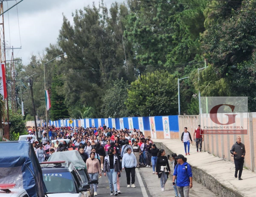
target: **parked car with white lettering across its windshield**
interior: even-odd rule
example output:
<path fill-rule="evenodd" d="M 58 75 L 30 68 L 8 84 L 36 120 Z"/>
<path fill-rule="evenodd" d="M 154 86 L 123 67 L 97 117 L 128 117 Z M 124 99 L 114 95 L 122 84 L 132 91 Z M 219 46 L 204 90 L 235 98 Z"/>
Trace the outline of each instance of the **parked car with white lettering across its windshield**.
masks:
<path fill-rule="evenodd" d="M 97 180 L 83 183 L 75 166 L 70 162 L 42 162 L 40 165 L 48 197 L 94 197 L 90 184 L 97 183 Z"/>

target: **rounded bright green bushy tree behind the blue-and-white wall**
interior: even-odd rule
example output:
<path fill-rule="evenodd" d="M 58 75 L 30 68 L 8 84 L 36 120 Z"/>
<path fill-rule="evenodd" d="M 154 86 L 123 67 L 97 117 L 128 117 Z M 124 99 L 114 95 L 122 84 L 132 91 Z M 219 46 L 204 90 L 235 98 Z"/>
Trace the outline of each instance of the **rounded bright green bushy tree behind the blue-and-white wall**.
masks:
<path fill-rule="evenodd" d="M 166 71 L 142 75 L 131 83 L 125 105 L 132 116 L 176 115 L 177 79 Z"/>

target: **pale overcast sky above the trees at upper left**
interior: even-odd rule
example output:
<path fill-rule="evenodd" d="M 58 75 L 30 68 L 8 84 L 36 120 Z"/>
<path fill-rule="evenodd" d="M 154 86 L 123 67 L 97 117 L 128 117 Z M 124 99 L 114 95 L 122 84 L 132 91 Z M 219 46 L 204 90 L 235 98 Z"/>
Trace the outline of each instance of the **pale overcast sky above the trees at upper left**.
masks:
<path fill-rule="evenodd" d="M 23 0 L 18 5 L 21 42 L 17 8 L 9 11 L 9 17 L 8 13 L 4 15 L 7 46 L 22 47 L 14 50 L 14 58 L 22 58 L 23 64 L 28 64 L 31 54 L 42 53 L 50 43 L 56 43 L 62 26 L 62 13 L 72 21 L 72 12 L 92 5 L 93 1 L 98 5 L 99 0 Z M 110 7 L 115 1 L 121 3 L 125 0 L 104 0 L 104 4 Z M 4 2 L 4 10 L 15 3 L 15 0 L 8 1 L 8 5 Z M 8 59 L 11 59 L 10 50 L 7 50 Z"/>

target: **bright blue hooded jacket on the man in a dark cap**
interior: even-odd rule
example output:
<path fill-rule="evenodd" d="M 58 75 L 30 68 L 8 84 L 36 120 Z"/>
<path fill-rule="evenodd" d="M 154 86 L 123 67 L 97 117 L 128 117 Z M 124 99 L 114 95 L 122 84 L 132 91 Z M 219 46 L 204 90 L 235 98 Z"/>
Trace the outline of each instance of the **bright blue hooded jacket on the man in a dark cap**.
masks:
<path fill-rule="evenodd" d="M 187 169 L 186 169 L 186 165 L 187 165 Z M 189 186 L 190 184 L 189 177 L 192 177 L 191 166 L 187 162 L 184 162 L 184 164 L 177 164 L 175 166 L 173 176 L 177 177 L 178 187 Z"/>

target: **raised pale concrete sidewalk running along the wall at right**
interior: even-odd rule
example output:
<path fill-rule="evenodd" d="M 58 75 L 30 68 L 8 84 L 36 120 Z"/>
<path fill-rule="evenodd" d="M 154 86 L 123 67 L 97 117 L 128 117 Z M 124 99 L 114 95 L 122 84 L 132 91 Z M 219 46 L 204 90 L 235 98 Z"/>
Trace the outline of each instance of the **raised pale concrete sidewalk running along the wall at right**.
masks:
<path fill-rule="evenodd" d="M 177 155 L 183 154 L 185 156 L 184 145 L 178 139 L 153 139 L 153 142 L 162 143 L 170 151 L 177 153 Z M 219 157 L 215 157 L 212 154 L 208 154 L 208 152 L 196 152 L 196 147 L 192 145 L 190 146 L 190 155 L 185 157 L 187 157 L 187 162 L 191 164 L 196 170 L 202 171 L 203 173 L 209 175 L 209 183 L 215 179 L 220 184 L 219 186 L 216 186 L 208 184 L 207 181 L 203 183 L 208 189 L 213 190 L 215 194 L 218 192 L 218 190 L 221 190 L 220 186 L 222 186 L 222 189 L 224 188 L 223 190 L 232 191 L 235 193 L 235 195 L 232 195 L 234 197 L 256 196 L 255 172 L 243 169 L 243 180 L 239 181 L 238 178 L 234 177 L 235 164 L 222 160 Z M 201 178 L 201 180 L 207 179 L 203 179 L 204 177 L 199 178 Z M 218 195 L 223 196 L 223 191 L 220 191 Z"/>

